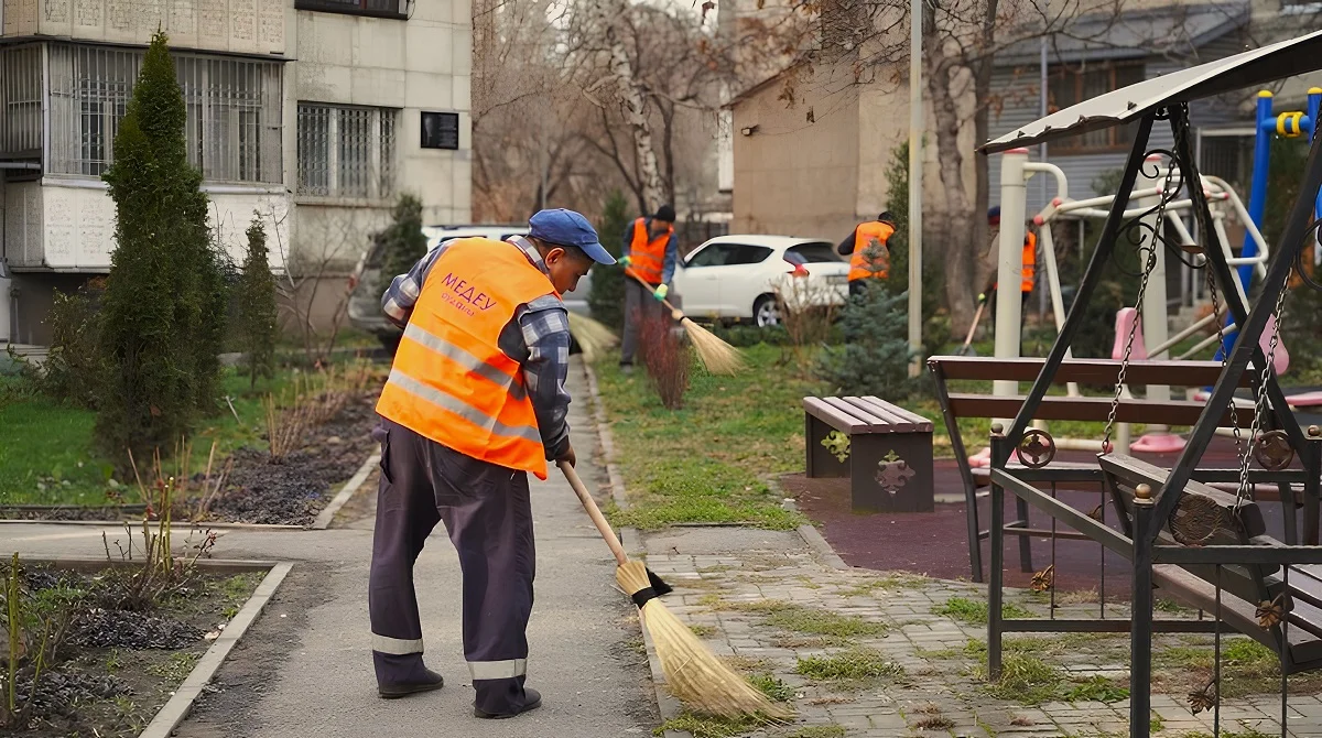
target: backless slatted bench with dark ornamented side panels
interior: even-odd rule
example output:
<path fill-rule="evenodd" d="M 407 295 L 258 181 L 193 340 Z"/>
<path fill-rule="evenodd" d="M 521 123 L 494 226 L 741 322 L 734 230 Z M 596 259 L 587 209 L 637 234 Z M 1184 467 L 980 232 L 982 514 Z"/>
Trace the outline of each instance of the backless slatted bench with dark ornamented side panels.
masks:
<path fill-rule="evenodd" d="M 932 421 L 876 397 L 805 397 L 808 477 L 849 477 L 859 512 L 932 512 Z M 828 447 L 849 438 L 841 460 Z"/>

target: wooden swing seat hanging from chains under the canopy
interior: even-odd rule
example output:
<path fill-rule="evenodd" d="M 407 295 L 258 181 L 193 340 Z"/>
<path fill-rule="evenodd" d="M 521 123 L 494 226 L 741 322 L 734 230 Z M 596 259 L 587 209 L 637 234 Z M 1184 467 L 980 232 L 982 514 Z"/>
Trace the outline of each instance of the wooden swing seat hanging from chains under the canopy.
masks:
<path fill-rule="evenodd" d="M 1107 454 L 1100 463 L 1120 520 L 1132 536 L 1137 487 L 1149 485 L 1153 499 L 1159 499 L 1169 492 L 1162 485 L 1170 472 L 1121 454 Z M 1263 512 L 1253 501 L 1245 500 L 1236 508 L 1235 495 L 1199 481 L 1190 481 L 1178 493 L 1175 512 L 1158 533 L 1159 546 L 1285 545 L 1266 534 Z M 1188 607 L 1219 611 L 1225 624 L 1274 651 L 1285 673 L 1322 668 L 1322 565 L 1155 563 L 1153 583 Z M 1286 627 L 1264 627 L 1260 608 L 1272 603 L 1280 607 Z"/>

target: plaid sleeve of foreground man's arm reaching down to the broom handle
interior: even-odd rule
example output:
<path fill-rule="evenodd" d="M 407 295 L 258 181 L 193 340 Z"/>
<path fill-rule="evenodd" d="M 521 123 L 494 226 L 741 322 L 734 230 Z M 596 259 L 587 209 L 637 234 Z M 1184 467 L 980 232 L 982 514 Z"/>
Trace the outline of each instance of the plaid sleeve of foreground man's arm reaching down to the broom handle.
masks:
<path fill-rule="evenodd" d="M 527 347 L 524 382 L 547 459 L 558 459 L 570 444 L 570 321 L 564 303 L 553 295 L 538 298 L 516 315 Z"/>

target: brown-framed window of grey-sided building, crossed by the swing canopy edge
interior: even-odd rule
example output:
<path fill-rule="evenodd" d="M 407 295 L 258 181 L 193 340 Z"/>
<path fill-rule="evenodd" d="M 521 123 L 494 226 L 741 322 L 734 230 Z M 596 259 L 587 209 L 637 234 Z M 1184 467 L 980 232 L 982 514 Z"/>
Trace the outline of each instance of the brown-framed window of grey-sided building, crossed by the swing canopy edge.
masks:
<path fill-rule="evenodd" d="M 1047 78 L 1048 111 L 1056 112 L 1121 87 L 1142 82 L 1142 62 L 1080 62 L 1056 65 Z M 1112 126 L 1052 142 L 1052 153 L 1095 153 L 1128 151 L 1134 140 L 1134 126 Z"/>

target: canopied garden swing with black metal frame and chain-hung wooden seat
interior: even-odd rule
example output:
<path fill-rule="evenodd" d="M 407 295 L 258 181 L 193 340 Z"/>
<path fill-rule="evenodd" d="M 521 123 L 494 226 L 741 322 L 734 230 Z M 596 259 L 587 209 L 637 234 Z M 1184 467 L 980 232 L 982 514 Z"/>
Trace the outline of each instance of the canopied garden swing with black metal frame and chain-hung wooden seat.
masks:
<path fill-rule="evenodd" d="M 1047 390 L 1059 382 L 1058 373 L 1066 364 L 1069 344 L 1083 323 L 1088 302 L 1100 282 L 1103 267 L 1110 259 L 1121 235 L 1142 227 L 1142 217 L 1126 218 L 1129 194 L 1151 155 L 1163 155 L 1169 167 L 1178 169 L 1183 183 L 1202 183 L 1194 156 L 1188 123 L 1188 103 L 1200 98 L 1243 90 L 1274 79 L 1322 69 L 1322 32 L 1301 38 L 1273 44 L 1245 52 L 1227 60 L 1181 70 L 1159 79 L 1110 93 L 1079 106 L 1047 116 L 1025 130 L 990 142 L 984 152 L 1001 152 L 1032 145 L 1054 138 L 1076 135 L 1089 130 L 1116 124 L 1137 123 L 1133 149 L 1125 165 L 1120 185 L 1121 196 L 1112 202 L 1105 226 L 1079 286 L 1069 315 L 1060 327 L 1058 340 L 1044 361 L 1032 389 L 1023 398 L 1018 413 L 1003 432 L 992 438 L 992 567 L 989 582 L 989 673 L 1001 671 L 1001 637 L 1006 631 L 1046 632 L 1124 632 L 1130 634 L 1130 735 L 1147 738 L 1151 706 L 1151 644 L 1154 631 L 1202 631 L 1216 637 L 1218 667 L 1211 684 L 1190 694 L 1192 710 L 1211 709 L 1216 716 L 1219 733 L 1220 710 L 1220 635 L 1223 627 L 1236 630 L 1273 648 L 1281 661 L 1281 734 L 1288 733 L 1288 684 L 1285 677 L 1294 672 L 1322 668 L 1322 546 L 1298 545 L 1298 541 L 1278 542 L 1265 536 L 1261 511 L 1252 500 L 1252 487 L 1257 481 L 1277 481 L 1286 488 L 1289 480 L 1303 483 L 1307 538 L 1315 544 L 1317 501 L 1322 484 L 1322 430 L 1300 427 L 1285 403 L 1284 393 L 1272 366 L 1276 336 L 1264 352 L 1261 337 L 1269 321 L 1281 312 L 1286 283 L 1300 262 L 1300 253 L 1310 234 L 1322 222 L 1313 220 L 1313 205 L 1322 189 L 1322 138 L 1313 142 L 1301 194 L 1293 205 L 1285 233 L 1280 235 L 1263 278 L 1263 298 L 1252 307 L 1235 290 L 1232 266 L 1225 258 L 1219 234 L 1212 227 L 1207 193 L 1202 186 L 1188 188 L 1194 214 L 1203 243 L 1199 251 L 1207 259 L 1210 284 L 1219 287 L 1228 303 L 1235 323 L 1240 327 L 1233 349 L 1225 357 L 1211 395 L 1199 410 L 1190 439 L 1170 470 L 1157 468 L 1116 452 L 1099 455 L 1097 470 L 1104 491 L 1120 521 L 1118 529 L 1084 513 L 1035 485 L 1050 476 L 1051 454 L 1040 452 L 1050 446 L 1050 435 L 1042 431 L 1026 434 L 1029 423 L 1043 407 Z M 1147 140 L 1153 126 L 1169 123 L 1175 145 L 1173 151 L 1149 151 Z M 1151 177 L 1153 175 L 1147 175 Z M 1169 193 L 1153 213 L 1159 222 Z M 1149 213 L 1145 213 L 1149 214 Z M 1005 234 L 1002 234 L 1005 238 Z M 1133 238 L 1130 235 L 1133 242 Z M 1154 253 L 1163 246 L 1154 234 L 1151 250 L 1146 254 L 1146 275 L 1151 274 Z M 1002 245 L 1003 246 L 1003 245 Z M 1310 288 L 1318 284 L 1307 282 Z M 1142 290 L 1141 290 L 1142 291 Z M 1140 298 L 1141 299 L 1141 298 Z M 1121 407 L 1121 388 L 1129 369 L 1128 349 L 1116 376 L 1116 398 L 1108 419 L 1117 421 Z M 1147 373 L 1150 374 L 1149 362 Z M 1178 372 L 1179 362 L 1170 362 Z M 1170 380 L 1177 380 L 1171 376 Z M 1159 382 L 1157 382 L 1159 384 Z M 1241 448 L 1241 468 L 1237 471 L 1239 489 L 1228 495 L 1199 481 L 1199 462 L 1216 429 L 1227 413 L 1233 415 L 1233 393 L 1248 384 L 1257 403 L 1249 430 L 1248 447 Z M 1259 429 L 1264 430 L 1261 439 Z M 1022 456 L 1043 458 L 1044 468 L 1011 468 L 1015 452 Z M 1249 458 L 1257 458 L 1263 470 L 1249 470 Z M 1288 468 L 1298 459 L 1301 470 Z M 1032 466 L 1032 464 L 1030 464 Z M 1255 473 L 1256 472 L 1256 473 Z M 1026 501 L 1058 522 L 1073 528 L 1104 550 L 1120 554 L 1133 563 L 1133 602 L 1130 622 L 1120 620 L 1006 620 L 1003 619 L 1003 508 L 1005 493 Z M 1099 511 L 1095 511 L 1099 512 Z M 1054 562 L 1052 562 L 1054 565 Z M 1050 571 L 1039 578 L 1051 586 Z M 1153 587 L 1161 586 L 1186 604 L 1212 615 L 1211 620 L 1171 622 L 1155 620 L 1153 615 Z M 1104 616 L 1104 612 L 1103 612 Z"/>

